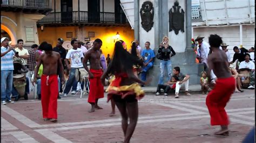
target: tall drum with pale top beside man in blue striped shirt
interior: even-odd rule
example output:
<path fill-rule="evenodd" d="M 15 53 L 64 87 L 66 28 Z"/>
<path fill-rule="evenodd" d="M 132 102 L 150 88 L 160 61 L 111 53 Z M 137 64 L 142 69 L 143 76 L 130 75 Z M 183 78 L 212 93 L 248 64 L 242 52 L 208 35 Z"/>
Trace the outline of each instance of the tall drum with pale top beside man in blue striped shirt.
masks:
<path fill-rule="evenodd" d="M 14 75 L 14 87 L 18 94 L 25 95 L 26 76 L 24 74 Z"/>

